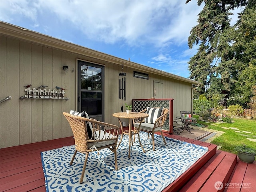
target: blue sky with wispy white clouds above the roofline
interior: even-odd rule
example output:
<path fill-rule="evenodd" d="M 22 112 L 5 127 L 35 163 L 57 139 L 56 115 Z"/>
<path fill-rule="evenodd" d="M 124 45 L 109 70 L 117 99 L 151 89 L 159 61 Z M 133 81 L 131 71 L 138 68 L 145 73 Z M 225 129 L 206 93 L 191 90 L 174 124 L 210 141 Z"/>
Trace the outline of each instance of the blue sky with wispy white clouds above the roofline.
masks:
<path fill-rule="evenodd" d="M 197 0 L 0 0 L 0 20 L 189 77 Z"/>

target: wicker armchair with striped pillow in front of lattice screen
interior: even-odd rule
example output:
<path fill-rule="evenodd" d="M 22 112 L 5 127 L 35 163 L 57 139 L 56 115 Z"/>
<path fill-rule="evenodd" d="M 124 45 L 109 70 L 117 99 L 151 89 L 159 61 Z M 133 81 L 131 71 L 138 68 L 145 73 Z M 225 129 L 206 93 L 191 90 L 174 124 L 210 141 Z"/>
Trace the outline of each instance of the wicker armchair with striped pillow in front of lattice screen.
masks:
<path fill-rule="evenodd" d="M 157 109 L 158 107 L 154 107 L 155 109 Z M 146 113 L 147 109 L 144 109 L 142 111 L 140 111 L 140 113 Z M 140 125 L 140 131 L 144 131 L 148 133 L 148 138 L 149 138 L 149 134 L 152 137 L 152 145 L 153 145 L 153 150 L 155 150 L 155 140 L 154 140 L 154 133 L 155 132 L 161 132 L 162 138 L 164 140 L 164 144 L 166 144 L 164 135 L 162 133 L 162 127 L 164 125 L 164 122 L 166 121 L 167 115 L 169 113 L 169 110 L 167 108 L 164 108 L 162 111 L 162 115 L 160 117 L 158 117 L 154 123 L 146 123 L 144 119 L 138 118 L 138 119 L 132 119 L 133 120 L 133 124 L 134 124 L 134 128 L 138 128 L 140 125 L 140 121 L 143 121 Z M 135 136 L 134 136 L 135 139 Z"/>

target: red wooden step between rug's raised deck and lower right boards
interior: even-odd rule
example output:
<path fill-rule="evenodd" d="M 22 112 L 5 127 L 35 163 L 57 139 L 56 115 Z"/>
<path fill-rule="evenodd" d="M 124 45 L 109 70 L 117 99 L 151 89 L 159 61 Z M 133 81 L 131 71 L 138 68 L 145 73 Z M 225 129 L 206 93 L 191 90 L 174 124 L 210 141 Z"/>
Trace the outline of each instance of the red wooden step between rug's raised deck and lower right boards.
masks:
<path fill-rule="evenodd" d="M 216 150 L 216 154 L 180 189 L 181 192 L 222 192 L 236 166 L 236 154 Z M 222 183 L 222 189 L 215 183 Z"/>

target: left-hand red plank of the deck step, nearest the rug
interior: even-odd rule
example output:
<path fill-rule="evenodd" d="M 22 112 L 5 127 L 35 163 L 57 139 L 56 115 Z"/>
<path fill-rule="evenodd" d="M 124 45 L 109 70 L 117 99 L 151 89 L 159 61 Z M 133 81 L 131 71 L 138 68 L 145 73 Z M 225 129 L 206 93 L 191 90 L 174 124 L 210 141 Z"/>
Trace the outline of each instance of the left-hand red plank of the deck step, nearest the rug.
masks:
<path fill-rule="evenodd" d="M 225 154 L 215 154 L 206 164 L 181 188 L 180 192 L 199 191 L 206 180 L 212 175 L 220 162 L 225 158 Z"/>

